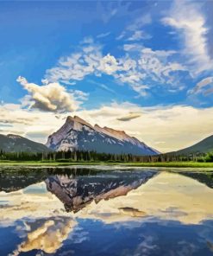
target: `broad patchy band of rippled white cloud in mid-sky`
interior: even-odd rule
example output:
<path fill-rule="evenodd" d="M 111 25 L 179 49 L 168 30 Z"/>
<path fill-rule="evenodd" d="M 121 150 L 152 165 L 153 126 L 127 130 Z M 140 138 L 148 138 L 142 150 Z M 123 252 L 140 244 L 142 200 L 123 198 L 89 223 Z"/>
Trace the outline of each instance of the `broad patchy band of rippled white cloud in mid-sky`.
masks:
<path fill-rule="evenodd" d="M 118 58 L 110 53 L 103 55 L 102 46 L 94 44 L 91 38 L 85 39 L 81 46 L 77 52 L 61 58 L 56 67 L 47 70 L 47 80 L 70 84 L 90 74 L 99 77 L 108 74 L 116 83 L 128 84 L 139 96 L 146 96 L 156 84 L 172 92 L 179 91 L 179 80 L 174 73 L 185 71 L 186 67 L 170 60 L 177 54 L 174 50 L 153 51 L 141 44 L 129 43 L 123 46 L 126 53 Z"/>

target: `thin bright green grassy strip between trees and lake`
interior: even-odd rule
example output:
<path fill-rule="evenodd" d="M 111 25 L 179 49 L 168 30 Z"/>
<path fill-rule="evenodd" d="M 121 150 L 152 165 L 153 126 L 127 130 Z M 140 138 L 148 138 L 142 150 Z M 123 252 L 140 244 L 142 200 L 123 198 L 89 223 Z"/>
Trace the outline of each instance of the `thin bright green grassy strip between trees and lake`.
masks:
<path fill-rule="evenodd" d="M 166 162 L 166 163 L 109 163 L 109 162 L 15 162 L 0 161 L 0 166 L 72 166 L 72 165 L 120 165 L 127 167 L 174 167 L 174 168 L 213 168 L 213 163 L 197 163 L 197 162 Z"/>

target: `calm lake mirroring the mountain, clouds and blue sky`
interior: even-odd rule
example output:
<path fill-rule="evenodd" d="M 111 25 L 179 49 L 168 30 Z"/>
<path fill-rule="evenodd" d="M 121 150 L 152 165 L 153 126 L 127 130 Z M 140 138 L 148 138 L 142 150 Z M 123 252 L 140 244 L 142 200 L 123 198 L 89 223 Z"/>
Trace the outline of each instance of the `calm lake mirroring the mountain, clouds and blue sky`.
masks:
<path fill-rule="evenodd" d="M 0 255 L 213 255 L 213 172 L 0 169 Z"/>

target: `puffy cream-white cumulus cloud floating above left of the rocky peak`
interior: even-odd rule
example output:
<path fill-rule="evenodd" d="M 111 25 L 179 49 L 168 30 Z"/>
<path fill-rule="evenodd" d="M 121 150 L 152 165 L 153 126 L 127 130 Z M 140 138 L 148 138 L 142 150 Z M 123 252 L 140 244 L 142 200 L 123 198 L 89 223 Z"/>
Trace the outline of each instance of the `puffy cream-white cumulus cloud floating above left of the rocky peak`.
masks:
<path fill-rule="evenodd" d="M 25 104 L 29 108 L 37 108 L 46 112 L 72 112 L 77 110 L 78 102 L 71 93 L 66 91 L 59 83 L 46 83 L 39 86 L 29 83 L 19 76 L 17 81 L 28 91 Z"/>

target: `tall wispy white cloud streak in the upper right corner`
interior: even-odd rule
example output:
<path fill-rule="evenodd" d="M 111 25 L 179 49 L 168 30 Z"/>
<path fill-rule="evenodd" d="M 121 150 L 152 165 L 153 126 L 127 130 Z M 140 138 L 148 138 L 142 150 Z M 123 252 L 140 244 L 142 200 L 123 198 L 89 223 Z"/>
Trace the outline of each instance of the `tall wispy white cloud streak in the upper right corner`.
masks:
<path fill-rule="evenodd" d="M 208 28 L 198 3 L 175 0 L 169 15 L 162 22 L 179 31 L 184 42 L 182 54 L 187 56 L 189 69 L 194 74 L 212 69 L 206 38 Z"/>

